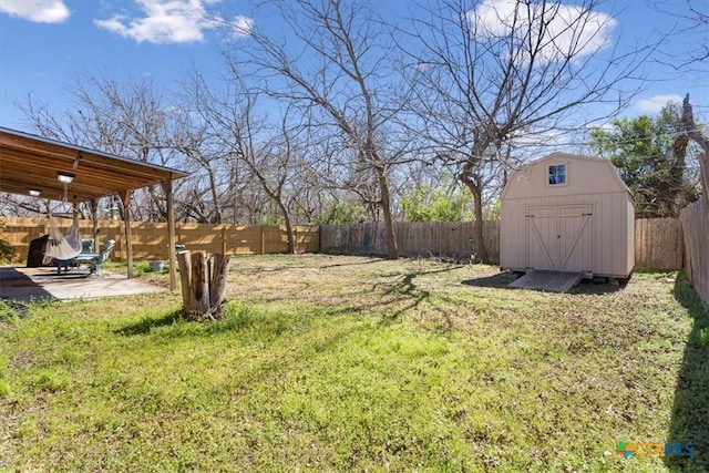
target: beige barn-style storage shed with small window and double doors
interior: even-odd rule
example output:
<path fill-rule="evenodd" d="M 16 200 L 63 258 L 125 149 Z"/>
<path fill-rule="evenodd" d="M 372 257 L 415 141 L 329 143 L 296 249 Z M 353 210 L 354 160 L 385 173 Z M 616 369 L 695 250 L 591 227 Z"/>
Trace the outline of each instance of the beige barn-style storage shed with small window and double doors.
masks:
<path fill-rule="evenodd" d="M 628 278 L 635 208 L 608 160 L 554 153 L 514 172 L 502 193 L 500 266 Z"/>

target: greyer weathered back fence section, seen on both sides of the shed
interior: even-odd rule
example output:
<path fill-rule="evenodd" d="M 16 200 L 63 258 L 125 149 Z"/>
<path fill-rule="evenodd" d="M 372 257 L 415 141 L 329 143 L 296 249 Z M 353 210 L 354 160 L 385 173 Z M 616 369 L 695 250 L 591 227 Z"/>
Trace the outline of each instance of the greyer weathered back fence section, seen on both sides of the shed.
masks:
<path fill-rule="evenodd" d="M 397 223 L 394 232 L 399 251 L 404 256 L 448 255 L 466 258 L 477 253 L 472 222 Z M 483 234 L 491 260 L 499 263 L 499 222 L 485 222 Z M 321 225 L 320 250 L 386 255 L 383 224 Z M 679 219 L 636 220 L 636 268 L 681 269 L 682 259 L 682 228 Z"/>

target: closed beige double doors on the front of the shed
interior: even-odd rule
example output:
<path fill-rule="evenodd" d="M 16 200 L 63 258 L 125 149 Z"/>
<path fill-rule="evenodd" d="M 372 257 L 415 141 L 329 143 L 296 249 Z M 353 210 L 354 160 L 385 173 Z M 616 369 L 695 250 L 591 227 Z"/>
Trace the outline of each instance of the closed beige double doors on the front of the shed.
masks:
<path fill-rule="evenodd" d="M 527 268 L 593 271 L 593 205 L 526 207 Z"/>

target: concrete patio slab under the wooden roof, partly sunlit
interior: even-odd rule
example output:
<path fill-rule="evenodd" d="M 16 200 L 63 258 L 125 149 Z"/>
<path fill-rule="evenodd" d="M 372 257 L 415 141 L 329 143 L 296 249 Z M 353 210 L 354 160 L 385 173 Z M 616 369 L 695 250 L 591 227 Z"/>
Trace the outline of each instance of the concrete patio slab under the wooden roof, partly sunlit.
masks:
<path fill-rule="evenodd" d="M 55 268 L 0 268 L 0 299 L 2 300 L 71 300 L 99 297 L 131 296 L 165 291 L 123 275 L 89 275 L 70 271 L 56 275 Z"/>

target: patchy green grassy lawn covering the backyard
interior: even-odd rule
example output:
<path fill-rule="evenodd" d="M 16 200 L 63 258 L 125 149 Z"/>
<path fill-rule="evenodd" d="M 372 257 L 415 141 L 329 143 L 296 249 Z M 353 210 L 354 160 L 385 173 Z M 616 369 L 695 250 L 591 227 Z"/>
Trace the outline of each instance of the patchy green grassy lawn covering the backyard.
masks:
<path fill-rule="evenodd" d="M 0 470 L 709 471 L 709 315 L 681 275 L 510 280 L 277 255 L 233 259 L 214 323 L 169 294 L 0 306 Z"/>

